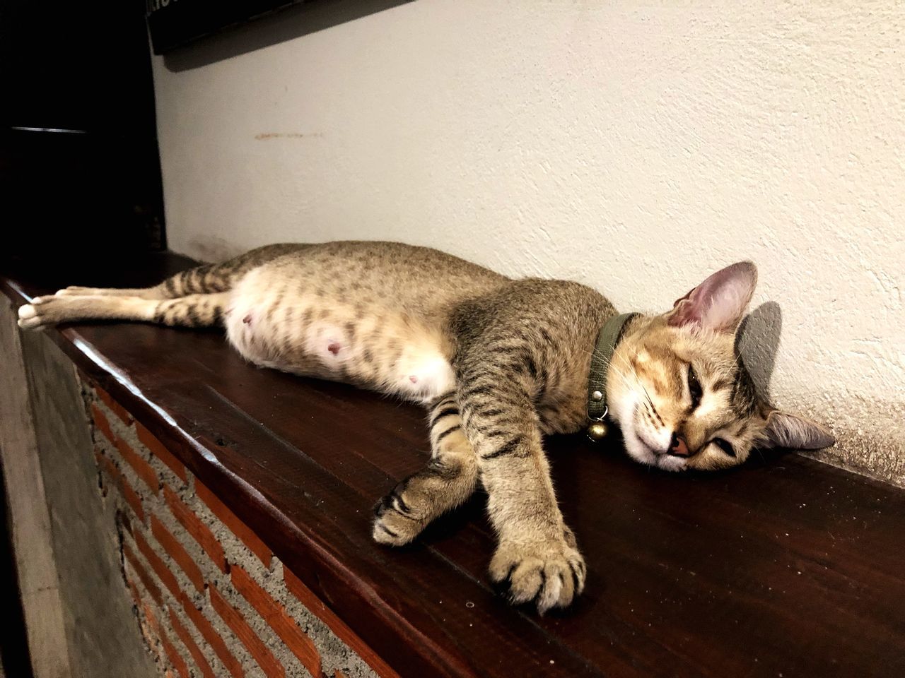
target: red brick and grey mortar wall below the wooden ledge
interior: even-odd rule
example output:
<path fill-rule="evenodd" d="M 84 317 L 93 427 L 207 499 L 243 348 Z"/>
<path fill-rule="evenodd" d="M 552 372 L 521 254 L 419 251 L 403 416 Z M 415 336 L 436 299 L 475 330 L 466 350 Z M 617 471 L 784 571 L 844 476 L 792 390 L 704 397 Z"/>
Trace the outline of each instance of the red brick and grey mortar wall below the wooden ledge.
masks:
<path fill-rule="evenodd" d="M 122 593 L 161 675 L 395 675 L 147 428 L 82 383 Z"/>

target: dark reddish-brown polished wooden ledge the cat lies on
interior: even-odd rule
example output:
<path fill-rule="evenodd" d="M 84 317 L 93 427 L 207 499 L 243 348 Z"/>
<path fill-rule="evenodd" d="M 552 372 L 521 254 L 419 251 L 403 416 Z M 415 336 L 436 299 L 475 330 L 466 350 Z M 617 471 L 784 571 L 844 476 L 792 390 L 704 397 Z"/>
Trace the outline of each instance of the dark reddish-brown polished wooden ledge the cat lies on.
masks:
<path fill-rule="evenodd" d="M 18 306 L 190 263 L 80 262 L 0 287 Z M 422 410 L 252 368 L 215 332 L 48 334 L 405 676 L 905 674 L 905 494 L 891 486 L 794 455 L 667 476 L 615 443 L 551 438 L 589 576 L 575 607 L 538 618 L 488 584 L 481 497 L 413 546 L 370 540 L 371 506 L 426 460 Z"/>

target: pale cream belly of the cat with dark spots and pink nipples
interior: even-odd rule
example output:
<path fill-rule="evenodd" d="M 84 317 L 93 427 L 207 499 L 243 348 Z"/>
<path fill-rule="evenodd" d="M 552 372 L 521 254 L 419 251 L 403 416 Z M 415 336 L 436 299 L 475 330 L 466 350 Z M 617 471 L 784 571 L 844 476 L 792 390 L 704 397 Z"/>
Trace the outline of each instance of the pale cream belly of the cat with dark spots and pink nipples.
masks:
<path fill-rule="evenodd" d="M 253 292 L 237 287 L 225 317 L 230 343 L 252 363 L 424 403 L 455 386 L 438 329 L 382 307 Z"/>

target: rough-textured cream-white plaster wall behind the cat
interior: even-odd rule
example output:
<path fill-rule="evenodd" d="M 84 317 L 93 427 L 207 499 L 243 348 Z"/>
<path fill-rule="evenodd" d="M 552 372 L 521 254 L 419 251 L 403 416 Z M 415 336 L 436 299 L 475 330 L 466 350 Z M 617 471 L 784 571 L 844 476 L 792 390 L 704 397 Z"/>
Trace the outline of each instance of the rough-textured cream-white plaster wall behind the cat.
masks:
<path fill-rule="evenodd" d="M 168 237 L 405 240 L 624 309 L 753 259 L 774 400 L 905 484 L 903 34 L 892 0 L 420 0 L 158 58 Z"/>

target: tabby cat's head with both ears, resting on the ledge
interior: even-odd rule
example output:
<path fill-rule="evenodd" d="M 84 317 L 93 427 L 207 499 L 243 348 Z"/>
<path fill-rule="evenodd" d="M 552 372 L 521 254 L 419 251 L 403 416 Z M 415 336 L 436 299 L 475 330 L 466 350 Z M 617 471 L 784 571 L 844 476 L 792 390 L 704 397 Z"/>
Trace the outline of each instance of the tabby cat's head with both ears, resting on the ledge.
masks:
<path fill-rule="evenodd" d="M 757 268 L 714 273 L 663 315 L 630 321 L 607 374 L 606 401 L 637 461 L 669 471 L 735 466 L 754 447 L 817 449 L 835 440 L 757 397 L 735 333 Z"/>

